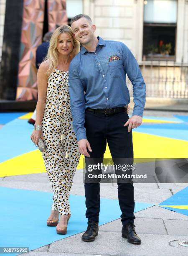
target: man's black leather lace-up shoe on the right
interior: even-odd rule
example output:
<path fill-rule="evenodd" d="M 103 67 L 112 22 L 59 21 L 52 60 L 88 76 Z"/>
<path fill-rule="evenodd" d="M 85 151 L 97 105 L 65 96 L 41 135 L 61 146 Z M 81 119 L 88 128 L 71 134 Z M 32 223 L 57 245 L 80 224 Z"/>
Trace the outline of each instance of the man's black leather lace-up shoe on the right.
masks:
<path fill-rule="evenodd" d="M 127 238 L 127 242 L 129 242 L 129 243 L 134 243 L 134 244 L 141 243 L 141 239 L 139 236 L 137 236 L 137 233 L 135 231 L 134 223 L 128 223 L 127 225 L 123 225 L 122 237 Z"/>

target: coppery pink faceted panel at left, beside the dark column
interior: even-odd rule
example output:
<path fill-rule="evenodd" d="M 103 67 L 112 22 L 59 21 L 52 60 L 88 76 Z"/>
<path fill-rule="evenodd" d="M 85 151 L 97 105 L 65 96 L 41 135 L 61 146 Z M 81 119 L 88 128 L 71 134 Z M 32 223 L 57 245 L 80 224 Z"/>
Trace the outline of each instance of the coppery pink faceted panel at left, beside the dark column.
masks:
<path fill-rule="evenodd" d="M 42 43 L 44 0 L 24 0 L 17 100 L 37 99 L 36 49 Z"/>

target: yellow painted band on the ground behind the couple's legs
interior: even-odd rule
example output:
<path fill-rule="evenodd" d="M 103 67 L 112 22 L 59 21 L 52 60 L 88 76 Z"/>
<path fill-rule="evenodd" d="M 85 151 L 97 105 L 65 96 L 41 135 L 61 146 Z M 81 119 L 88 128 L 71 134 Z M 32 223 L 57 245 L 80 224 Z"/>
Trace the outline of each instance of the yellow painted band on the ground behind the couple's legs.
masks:
<path fill-rule="evenodd" d="M 186 158 L 188 141 L 133 132 L 134 157 L 143 161 L 155 158 Z M 109 147 L 104 158 L 111 158 Z M 83 169 L 81 155 L 77 169 Z M 41 152 L 36 149 L 0 163 L 0 177 L 46 172 Z"/>

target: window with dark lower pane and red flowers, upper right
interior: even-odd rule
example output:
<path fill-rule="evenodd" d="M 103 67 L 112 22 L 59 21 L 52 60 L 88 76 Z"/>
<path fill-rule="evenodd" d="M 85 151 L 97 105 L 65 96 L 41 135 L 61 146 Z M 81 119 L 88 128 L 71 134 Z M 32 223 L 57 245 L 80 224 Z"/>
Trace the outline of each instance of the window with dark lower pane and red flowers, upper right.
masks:
<path fill-rule="evenodd" d="M 175 59 L 177 0 L 144 1 L 143 56 Z"/>

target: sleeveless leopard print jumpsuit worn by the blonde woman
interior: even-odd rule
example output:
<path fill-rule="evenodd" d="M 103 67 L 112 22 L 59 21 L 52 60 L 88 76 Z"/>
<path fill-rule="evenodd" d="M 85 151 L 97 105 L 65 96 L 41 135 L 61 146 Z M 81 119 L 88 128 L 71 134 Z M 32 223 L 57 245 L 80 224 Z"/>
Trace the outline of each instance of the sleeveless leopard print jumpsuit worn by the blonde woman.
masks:
<path fill-rule="evenodd" d="M 53 190 L 51 209 L 71 214 L 69 192 L 80 153 L 72 128 L 68 72 L 55 69 L 48 77 L 46 105 L 42 120 L 46 152 L 43 160 Z"/>

